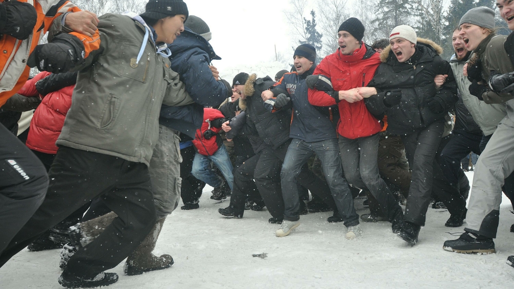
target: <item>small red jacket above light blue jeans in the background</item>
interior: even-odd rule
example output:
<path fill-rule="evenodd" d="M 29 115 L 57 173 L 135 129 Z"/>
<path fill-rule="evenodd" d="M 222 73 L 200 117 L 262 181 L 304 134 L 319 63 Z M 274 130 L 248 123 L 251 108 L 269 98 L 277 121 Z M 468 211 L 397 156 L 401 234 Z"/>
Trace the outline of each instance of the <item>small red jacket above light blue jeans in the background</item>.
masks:
<path fill-rule="evenodd" d="M 201 128 L 196 130 L 195 138 L 193 139 L 193 145 L 196 148 L 196 151 L 201 155 L 213 155 L 219 147 L 222 146 L 223 140 L 218 135 L 213 135 L 211 138 L 206 139 L 204 137 L 204 133 L 207 130 L 211 130 L 214 133 L 218 133 L 221 131 L 221 128 L 212 127 L 210 121 L 213 121 L 218 118 L 224 118 L 225 116 L 222 112 L 215 109 L 204 109 L 204 123 L 201 124 Z M 209 122 L 207 122 L 209 120 Z"/>

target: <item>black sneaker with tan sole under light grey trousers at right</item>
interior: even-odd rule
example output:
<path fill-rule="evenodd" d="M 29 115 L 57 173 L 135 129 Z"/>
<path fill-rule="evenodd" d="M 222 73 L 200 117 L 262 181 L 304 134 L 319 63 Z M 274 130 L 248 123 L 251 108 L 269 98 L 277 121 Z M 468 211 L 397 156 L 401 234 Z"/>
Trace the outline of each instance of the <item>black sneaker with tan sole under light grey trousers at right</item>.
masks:
<path fill-rule="evenodd" d="M 465 232 L 457 240 L 445 241 L 443 249 L 457 253 L 495 253 L 492 238 L 480 236 L 470 232 Z"/>

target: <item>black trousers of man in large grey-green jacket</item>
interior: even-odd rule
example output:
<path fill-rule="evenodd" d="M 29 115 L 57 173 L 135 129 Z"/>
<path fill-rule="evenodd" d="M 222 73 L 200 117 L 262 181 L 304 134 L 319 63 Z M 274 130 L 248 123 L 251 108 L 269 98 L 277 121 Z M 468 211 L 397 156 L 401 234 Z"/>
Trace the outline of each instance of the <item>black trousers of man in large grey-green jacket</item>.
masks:
<path fill-rule="evenodd" d="M 49 172 L 41 207 L 0 256 L 0 265 L 82 205 L 101 196 L 118 217 L 93 242 L 77 251 L 68 275 L 93 278 L 125 259 L 156 222 L 148 167 L 118 157 L 61 147 Z"/>

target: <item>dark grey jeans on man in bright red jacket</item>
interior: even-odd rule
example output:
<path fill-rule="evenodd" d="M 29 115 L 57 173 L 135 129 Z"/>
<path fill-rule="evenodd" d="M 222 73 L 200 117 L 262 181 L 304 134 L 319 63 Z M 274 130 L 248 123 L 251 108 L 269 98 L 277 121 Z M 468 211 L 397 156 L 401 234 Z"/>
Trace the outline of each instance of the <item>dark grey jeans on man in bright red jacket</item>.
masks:
<path fill-rule="evenodd" d="M 403 214 L 386 182 L 378 171 L 379 134 L 357 139 L 339 136 L 339 150 L 344 175 L 348 183 L 367 188 L 378 201 L 384 215 L 392 222 L 398 214 Z"/>

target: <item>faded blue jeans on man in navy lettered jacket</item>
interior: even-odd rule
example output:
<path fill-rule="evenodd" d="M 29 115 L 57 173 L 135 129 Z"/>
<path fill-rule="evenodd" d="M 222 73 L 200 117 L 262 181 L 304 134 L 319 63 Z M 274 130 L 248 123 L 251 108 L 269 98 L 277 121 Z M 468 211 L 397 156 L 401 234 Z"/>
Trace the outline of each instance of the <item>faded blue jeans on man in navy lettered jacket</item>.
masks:
<path fill-rule="evenodd" d="M 351 227 L 359 224 L 359 215 L 355 212 L 352 193 L 343 178 L 343 169 L 337 139 L 318 142 L 306 142 L 293 139 L 282 165 L 282 196 L 284 198 L 284 220 L 300 220 L 300 201 L 298 198 L 297 177 L 309 157 L 316 153 L 321 160 L 321 167 L 326 182 L 336 201 L 337 209 L 344 219 L 344 225 Z"/>

